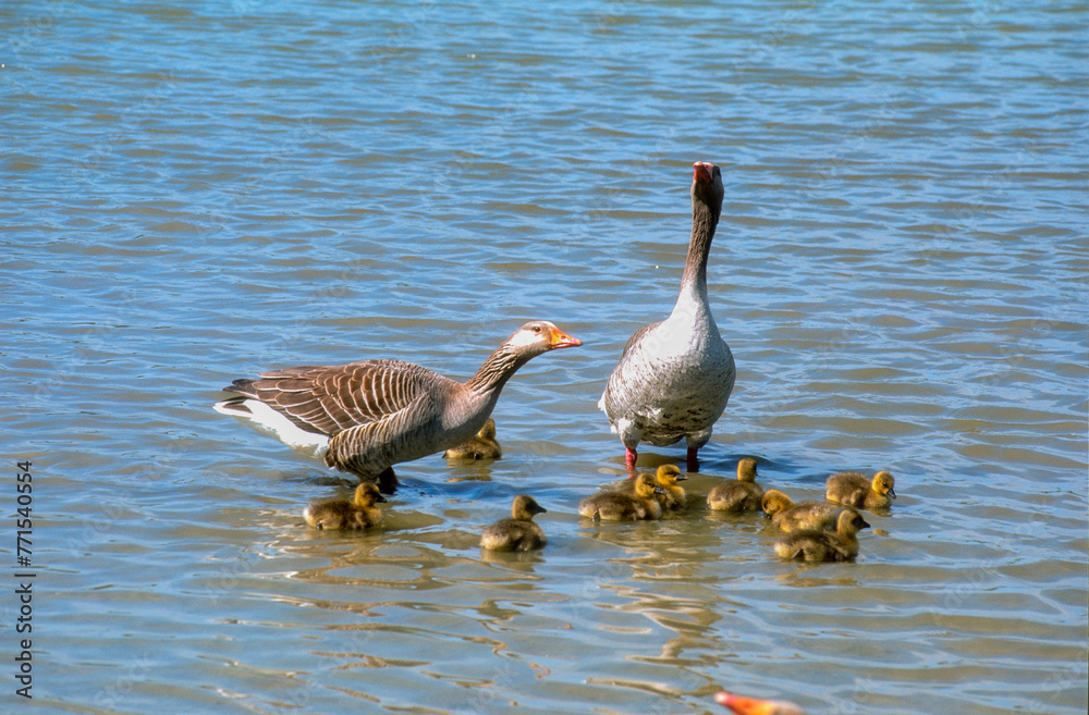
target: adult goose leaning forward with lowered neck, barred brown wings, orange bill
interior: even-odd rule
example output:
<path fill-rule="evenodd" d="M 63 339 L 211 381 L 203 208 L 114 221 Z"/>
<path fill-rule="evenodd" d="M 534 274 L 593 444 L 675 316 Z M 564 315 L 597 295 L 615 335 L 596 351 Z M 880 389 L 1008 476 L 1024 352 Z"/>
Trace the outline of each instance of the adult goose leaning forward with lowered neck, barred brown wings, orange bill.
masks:
<path fill-rule="evenodd" d="M 511 375 L 534 357 L 582 341 L 548 321 L 514 331 L 468 382 L 399 360 L 273 370 L 235 380 L 215 408 L 329 467 L 395 488 L 393 465 L 462 444 L 477 433 Z"/>

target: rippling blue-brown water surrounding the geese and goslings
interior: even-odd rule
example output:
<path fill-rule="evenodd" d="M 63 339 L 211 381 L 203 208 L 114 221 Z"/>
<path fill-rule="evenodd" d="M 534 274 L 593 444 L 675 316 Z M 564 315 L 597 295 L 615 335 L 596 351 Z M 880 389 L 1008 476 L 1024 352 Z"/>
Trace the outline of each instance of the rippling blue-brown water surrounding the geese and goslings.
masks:
<path fill-rule="evenodd" d="M 710 713 L 725 688 L 1084 713 L 1087 15 L 7 5 L 2 503 L 33 461 L 35 712 Z M 746 455 L 795 498 L 888 468 L 855 564 L 780 562 L 698 496 L 575 514 L 621 473 L 596 402 L 673 304 L 697 159 L 724 169 L 738 379 L 689 490 Z M 381 532 L 307 531 L 344 488 L 210 409 L 307 362 L 464 379 L 531 318 L 585 345 L 506 387 L 502 460 L 405 465 Z M 548 548 L 481 554 L 524 491 Z"/>

